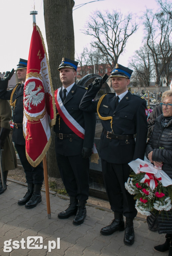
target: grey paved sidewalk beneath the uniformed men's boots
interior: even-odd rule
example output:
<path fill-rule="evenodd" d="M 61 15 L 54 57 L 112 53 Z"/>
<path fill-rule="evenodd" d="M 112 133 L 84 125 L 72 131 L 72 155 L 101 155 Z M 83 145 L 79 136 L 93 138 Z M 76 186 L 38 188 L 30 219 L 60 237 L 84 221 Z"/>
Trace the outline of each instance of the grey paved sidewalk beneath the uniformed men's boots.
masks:
<path fill-rule="evenodd" d="M 18 199 L 26 193 L 26 190 L 26 187 L 20 183 L 11 180 L 8 181 L 7 190 L 0 195 L 0 256 L 161 255 L 153 250 L 153 246 L 163 243 L 165 234 L 159 235 L 149 231 L 145 219 L 134 220 L 135 242 L 131 246 L 126 246 L 123 243 L 124 232 L 117 231 L 110 236 L 100 234 L 100 229 L 113 219 L 113 213 L 108 209 L 100 209 L 88 204 L 85 222 L 75 226 L 72 223 L 73 216 L 64 220 L 57 218 L 58 213 L 68 207 L 67 197 L 55 193 L 50 194 L 51 219 L 48 219 L 44 191 L 42 191 L 42 202 L 33 209 L 26 209 L 17 204 Z M 36 236 L 33 239 L 34 242 L 37 239 L 41 241 L 39 239 L 43 238 L 43 242 L 40 243 L 42 249 L 33 249 L 34 244 L 31 238 L 28 238 L 32 236 Z M 57 238 L 60 238 L 60 249 L 57 249 Z M 4 252 L 4 242 L 8 240 L 11 244 L 8 242 L 6 252 Z M 53 247 L 55 249 L 51 249 Z M 168 253 L 163 255 L 166 256 Z"/>

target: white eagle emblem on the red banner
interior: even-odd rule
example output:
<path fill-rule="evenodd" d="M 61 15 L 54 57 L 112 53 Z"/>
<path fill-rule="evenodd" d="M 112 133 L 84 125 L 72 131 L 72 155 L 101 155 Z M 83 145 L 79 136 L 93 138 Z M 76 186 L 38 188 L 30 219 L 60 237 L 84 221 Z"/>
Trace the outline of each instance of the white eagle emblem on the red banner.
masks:
<path fill-rule="evenodd" d="M 40 85 L 37 87 L 36 91 L 33 91 L 35 89 L 35 82 L 29 82 L 25 87 L 25 97 L 24 97 L 24 106 L 28 107 L 29 110 L 31 110 L 31 104 L 34 106 L 37 106 L 41 101 L 44 99 L 44 92 L 40 92 L 42 89 L 42 86 Z M 38 93 L 38 94 L 37 94 Z"/>

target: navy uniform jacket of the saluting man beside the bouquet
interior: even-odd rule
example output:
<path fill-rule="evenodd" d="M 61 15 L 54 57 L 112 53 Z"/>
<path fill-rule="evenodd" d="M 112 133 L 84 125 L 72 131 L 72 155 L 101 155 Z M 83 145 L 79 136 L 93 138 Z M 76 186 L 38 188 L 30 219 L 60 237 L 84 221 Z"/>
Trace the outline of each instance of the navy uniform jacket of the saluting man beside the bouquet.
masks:
<path fill-rule="evenodd" d="M 88 112 L 97 112 L 95 98 L 98 88 L 89 86 L 84 95 L 80 109 Z M 147 139 L 147 108 L 145 99 L 128 93 L 122 98 L 115 109 L 115 93 L 108 93 L 103 98 L 99 114 L 102 117 L 112 116 L 114 134 L 136 134 L 136 140 L 108 139 L 102 132 L 100 137 L 100 157 L 109 163 L 124 164 L 137 158 L 144 159 Z M 111 131 L 110 120 L 101 120 L 103 130 Z"/>

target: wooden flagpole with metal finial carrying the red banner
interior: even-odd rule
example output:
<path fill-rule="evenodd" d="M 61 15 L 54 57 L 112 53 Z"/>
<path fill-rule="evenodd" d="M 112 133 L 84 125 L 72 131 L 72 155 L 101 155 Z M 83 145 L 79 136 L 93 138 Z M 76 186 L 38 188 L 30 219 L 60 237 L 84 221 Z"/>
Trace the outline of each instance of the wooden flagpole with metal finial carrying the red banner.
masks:
<path fill-rule="evenodd" d="M 36 14 L 37 11 L 30 11 L 30 15 L 33 15 L 33 26 L 36 25 Z M 46 201 L 47 201 L 47 214 L 48 218 L 51 219 L 51 209 L 50 209 L 50 195 L 49 195 L 49 186 L 48 186 L 48 172 L 47 172 L 47 158 L 46 155 L 43 158 L 43 167 L 44 167 L 44 181 L 45 181 L 45 193 L 46 193 Z"/>

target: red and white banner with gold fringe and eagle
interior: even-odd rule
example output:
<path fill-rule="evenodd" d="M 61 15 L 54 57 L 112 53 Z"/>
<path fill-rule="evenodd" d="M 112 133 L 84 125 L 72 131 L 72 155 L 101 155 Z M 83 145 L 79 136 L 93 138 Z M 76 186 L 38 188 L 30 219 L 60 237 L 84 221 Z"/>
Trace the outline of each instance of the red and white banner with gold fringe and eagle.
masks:
<path fill-rule="evenodd" d="M 37 25 L 33 28 L 24 86 L 23 132 L 26 156 L 36 167 L 51 143 L 50 126 L 56 122 L 55 100 L 44 40 Z"/>

